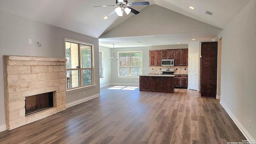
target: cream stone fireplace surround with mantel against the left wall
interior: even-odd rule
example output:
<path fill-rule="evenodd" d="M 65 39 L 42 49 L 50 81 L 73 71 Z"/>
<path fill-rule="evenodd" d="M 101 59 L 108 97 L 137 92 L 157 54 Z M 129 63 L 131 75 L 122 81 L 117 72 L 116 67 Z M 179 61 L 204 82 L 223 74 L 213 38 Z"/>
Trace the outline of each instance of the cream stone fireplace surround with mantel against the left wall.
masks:
<path fill-rule="evenodd" d="M 65 61 L 65 58 L 3 56 L 7 130 L 66 109 Z M 52 93 L 53 107 L 25 115 L 25 98 L 48 92 Z M 39 103 L 35 105 L 40 107 Z"/>

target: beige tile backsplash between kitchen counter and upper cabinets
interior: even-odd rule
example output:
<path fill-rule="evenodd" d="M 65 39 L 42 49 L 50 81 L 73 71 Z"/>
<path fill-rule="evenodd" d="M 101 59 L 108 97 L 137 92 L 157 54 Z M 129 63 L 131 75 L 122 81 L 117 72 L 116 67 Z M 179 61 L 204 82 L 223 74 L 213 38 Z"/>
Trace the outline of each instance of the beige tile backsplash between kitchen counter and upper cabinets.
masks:
<path fill-rule="evenodd" d="M 174 74 L 188 74 L 188 66 L 150 66 L 149 68 L 150 68 L 150 74 L 159 74 L 160 68 L 161 70 L 173 68 Z"/>

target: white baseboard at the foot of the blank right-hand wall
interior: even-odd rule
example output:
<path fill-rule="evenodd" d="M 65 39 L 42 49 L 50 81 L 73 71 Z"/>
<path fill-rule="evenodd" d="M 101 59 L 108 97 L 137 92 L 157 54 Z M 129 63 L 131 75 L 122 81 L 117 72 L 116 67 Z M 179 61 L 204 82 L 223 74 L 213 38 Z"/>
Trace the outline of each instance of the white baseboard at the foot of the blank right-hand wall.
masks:
<path fill-rule="evenodd" d="M 247 132 L 247 130 L 242 126 L 242 124 L 236 119 L 236 117 L 234 116 L 234 114 L 232 114 L 232 112 L 228 109 L 228 107 L 222 102 L 222 100 L 220 100 L 220 104 L 222 105 L 222 107 L 226 110 L 226 112 L 228 113 L 228 115 L 230 116 L 230 118 L 234 121 L 234 123 L 236 124 L 236 126 L 239 128 L 239 130 L 242 132 L 242 134 L 244 134 L 244 137 L 247 140 L 254 140 L 252 138 L 252 136 Z"/>

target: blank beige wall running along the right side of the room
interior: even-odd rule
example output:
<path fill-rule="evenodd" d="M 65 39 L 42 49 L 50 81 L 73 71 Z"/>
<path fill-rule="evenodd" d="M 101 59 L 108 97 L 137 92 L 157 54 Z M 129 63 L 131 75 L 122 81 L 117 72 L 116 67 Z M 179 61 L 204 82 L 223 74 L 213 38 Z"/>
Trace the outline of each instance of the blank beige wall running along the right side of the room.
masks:
<path fill-rule="evenodd" d="M 220 103 L 248 139 L 256 140 L 256 0 L 224 28 Z M 251 121 L 251 127 L 249 126 Z"/>

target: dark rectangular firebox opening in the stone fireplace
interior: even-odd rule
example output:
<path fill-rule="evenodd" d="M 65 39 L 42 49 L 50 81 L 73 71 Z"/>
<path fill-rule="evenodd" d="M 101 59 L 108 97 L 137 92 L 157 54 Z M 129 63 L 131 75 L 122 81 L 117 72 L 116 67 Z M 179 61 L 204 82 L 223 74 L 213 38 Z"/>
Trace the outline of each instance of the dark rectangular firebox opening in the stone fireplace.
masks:
<path fill-rule="evenodd" d="M 53 92 L 25 97 L 25 116 L 53 107 Z"/>

